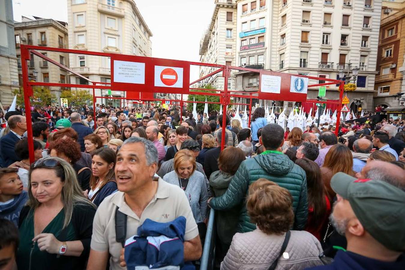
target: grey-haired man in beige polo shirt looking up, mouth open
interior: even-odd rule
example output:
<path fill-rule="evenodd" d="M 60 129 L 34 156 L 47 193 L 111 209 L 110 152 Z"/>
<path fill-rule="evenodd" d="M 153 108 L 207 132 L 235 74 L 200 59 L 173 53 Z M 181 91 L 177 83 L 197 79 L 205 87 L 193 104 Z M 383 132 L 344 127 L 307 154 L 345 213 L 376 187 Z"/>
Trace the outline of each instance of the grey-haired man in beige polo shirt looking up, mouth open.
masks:
<path fill-rule="evenodd" d="M 128 138 L 117 155 L 117 192 L 103 200 L 93 221 L 93 235 L 87 270 L 106 269 L 109 254 L 113 270 L 120 266 L 122 244 L 115 240 L 115 209 L 126 214 L 126 239 L 135 235 L 145 219 L 157 222 L 186 218 L 184 261 L 199 259 L 202 253 L 198 228 L 184 191 L 161 178 L 154 178 L 158 151 L 144 138 Z"/>

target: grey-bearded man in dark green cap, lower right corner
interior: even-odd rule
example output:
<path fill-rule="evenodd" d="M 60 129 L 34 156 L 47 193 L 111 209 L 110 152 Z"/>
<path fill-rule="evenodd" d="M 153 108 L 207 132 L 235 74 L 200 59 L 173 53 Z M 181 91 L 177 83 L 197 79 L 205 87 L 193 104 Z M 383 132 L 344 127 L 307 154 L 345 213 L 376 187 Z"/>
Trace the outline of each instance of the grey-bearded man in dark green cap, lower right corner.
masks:
<path fill-rule="evenodd" d="M 379 179 L 332 177 L 337 202 L 330 222 L 347 239 L 327 266 L 308 269 L 405 269 L 405 192 Z"/>

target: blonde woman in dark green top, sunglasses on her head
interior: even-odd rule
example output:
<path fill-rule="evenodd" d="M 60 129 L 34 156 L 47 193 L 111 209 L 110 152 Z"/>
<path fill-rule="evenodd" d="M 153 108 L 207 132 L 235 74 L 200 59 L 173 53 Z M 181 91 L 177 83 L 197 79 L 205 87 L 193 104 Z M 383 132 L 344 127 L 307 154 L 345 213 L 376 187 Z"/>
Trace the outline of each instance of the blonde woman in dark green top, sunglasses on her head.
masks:
<path fill-rule="evenodd" d="M 59 157 L 31 167 L 28 203 L 19 217 L 18 269 L 84 269 L 96 206 L 72 166 Z"/>

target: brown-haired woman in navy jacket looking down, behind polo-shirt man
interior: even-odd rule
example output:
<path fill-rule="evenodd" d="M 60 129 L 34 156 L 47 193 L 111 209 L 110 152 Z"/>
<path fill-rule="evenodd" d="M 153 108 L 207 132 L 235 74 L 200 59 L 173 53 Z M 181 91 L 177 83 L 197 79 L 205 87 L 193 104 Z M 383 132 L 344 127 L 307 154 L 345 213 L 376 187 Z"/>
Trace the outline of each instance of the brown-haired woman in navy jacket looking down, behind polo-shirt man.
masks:
<path fill-rule="evenodd" d="M 116 156 L 115 151 L 109 148 L 100 148 L 93 152 L 93 175 L 90 179 L 90 190 L 85 192 L 85 195 L 97 206 L 117 190 L 114 174 Z"/>

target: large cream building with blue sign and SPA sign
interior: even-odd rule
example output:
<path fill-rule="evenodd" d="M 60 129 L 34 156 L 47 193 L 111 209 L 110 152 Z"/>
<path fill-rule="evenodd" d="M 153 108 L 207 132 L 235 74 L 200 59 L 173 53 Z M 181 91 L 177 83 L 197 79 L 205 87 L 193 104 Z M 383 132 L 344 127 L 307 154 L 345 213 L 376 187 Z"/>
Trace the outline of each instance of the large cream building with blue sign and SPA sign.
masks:
<path fill-rule="evenodd" d="M 354 111 L 373 109 L 380 1 L 238 0 L 237 14 L 238 66 L 330 79 L 339 79 L 339 70 L 354 79 L 357 67 L 349 105 Z M 236 82 L 238 89 L 257 91 L 259 75 L 239 72 Z M 337 86 L 328 90 L 326 98 L 339 99 Z M 309 88 L 308 98 L 317 95 L 318 87 Z"/>

